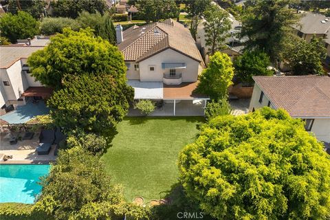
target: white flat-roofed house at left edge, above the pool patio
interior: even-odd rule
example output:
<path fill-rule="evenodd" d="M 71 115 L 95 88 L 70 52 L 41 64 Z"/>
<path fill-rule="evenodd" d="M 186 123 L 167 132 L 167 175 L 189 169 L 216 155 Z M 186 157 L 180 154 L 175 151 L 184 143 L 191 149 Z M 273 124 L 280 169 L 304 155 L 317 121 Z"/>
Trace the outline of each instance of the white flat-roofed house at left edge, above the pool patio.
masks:
<path fill-rule="evenodd" d="M 25 97 L 45 98 L 50 94 L 47 89 L 31 76 L 26 64 L 28 56 L 43 49 L 49 39 L 33 39 L 30 45 L 0 46 L 0 115 L 11 104 L 25 104 Z"/>

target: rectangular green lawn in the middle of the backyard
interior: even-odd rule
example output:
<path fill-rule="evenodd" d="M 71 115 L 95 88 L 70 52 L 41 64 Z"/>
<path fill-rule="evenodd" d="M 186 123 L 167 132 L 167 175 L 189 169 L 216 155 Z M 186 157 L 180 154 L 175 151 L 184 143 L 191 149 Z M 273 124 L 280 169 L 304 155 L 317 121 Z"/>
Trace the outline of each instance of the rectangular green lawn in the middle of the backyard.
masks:
<path fill-rule="evenodd" d="M 111 147 L 102 156 L 113 182 L 124 186 L 128 201 L 135 196 L 161 199 L 177 182 L 179 151 L 193 142 L 201 117 L 125 118 Z"/>

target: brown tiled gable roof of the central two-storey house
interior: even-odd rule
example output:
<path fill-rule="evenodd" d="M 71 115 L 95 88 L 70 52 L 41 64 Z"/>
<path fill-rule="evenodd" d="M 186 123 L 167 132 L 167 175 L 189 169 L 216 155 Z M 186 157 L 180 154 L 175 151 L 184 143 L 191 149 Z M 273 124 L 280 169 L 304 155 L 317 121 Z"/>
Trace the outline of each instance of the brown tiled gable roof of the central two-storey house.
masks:
<path fill-rule="evenodd" d="M 124 54 L 125 61 L 140 62 L 170 48 L 203 62 L 189 30 L 173 19 L 142 27 L 134 25 L 123 32 L 123 41 L 118 48 Z"/>

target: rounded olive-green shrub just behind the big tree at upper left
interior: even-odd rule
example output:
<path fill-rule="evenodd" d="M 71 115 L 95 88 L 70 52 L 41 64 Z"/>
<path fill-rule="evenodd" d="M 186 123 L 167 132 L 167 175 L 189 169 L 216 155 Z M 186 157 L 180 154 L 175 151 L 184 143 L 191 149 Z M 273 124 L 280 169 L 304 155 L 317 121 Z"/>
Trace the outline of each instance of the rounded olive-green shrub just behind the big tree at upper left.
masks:
<path fill-rule="evenodd" d="M 41 34 L 52 35 L 62 33 L 63 28 L 71 28 L 72 30 L 79 30 L 81 25 L 78 21 L 69 18 L 45 18 L 41 22 Z"/>

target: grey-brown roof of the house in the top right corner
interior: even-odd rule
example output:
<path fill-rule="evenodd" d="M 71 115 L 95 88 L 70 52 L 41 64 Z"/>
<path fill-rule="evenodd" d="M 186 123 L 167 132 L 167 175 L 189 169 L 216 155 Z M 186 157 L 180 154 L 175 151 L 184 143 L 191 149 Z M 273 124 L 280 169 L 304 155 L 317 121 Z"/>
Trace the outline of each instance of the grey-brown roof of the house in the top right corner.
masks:
<path fill-rule="evenodd" d="M 326 19 L 327 17 L 322 14 L 303 12 L 303 17 L 294 28 L 304 34 L 326 34 L 330 29 L 330 19 Z"/>

